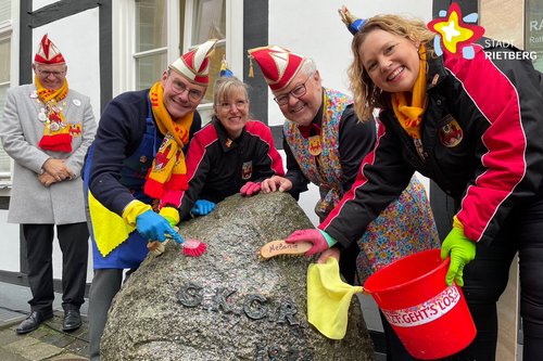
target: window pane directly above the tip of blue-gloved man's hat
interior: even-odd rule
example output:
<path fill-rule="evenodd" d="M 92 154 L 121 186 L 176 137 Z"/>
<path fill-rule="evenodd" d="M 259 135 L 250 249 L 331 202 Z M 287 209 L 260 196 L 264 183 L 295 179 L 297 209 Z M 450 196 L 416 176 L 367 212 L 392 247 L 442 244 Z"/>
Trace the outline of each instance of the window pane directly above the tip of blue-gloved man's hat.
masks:
<path fill-rule="evenodd" d="M 192 44 L 226 38 L 226 0 L 195 0 Z"/>

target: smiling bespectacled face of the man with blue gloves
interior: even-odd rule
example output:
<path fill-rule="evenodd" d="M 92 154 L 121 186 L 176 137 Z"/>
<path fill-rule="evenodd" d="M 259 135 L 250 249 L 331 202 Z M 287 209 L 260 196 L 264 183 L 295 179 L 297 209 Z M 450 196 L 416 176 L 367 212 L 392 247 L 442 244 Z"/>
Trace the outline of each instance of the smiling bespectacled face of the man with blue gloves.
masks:
<path fill-rule="evenodd" d="M 194 112 L 206 89 L 174 70 L 164 72 L 162 86 L 164 88 L 162 102 L 174 120 Z"/>

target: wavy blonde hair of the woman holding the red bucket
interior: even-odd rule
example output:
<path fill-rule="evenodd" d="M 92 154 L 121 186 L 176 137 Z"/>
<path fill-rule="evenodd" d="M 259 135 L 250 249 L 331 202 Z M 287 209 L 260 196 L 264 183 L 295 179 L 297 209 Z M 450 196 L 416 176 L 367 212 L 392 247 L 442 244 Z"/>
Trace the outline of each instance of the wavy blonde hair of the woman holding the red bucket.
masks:
<path fill-rule="evenodd" d="M 370 17 L 353 38 L 351 50 L 354 59 L 348 69 L 351 82 L 350 89 L 354 98 L 354 109 L 361 121 L 369 119 L 376 107 L 386 108 L 390 104 L 390 94 L 382 92 L 375 86 L 364 69 L 359 55 L 362 43 L 366 40 L 368 34 L 375 29 L 381 29 L 414 42 L 425 43 L 427 54 L 433 54 L 435 34 L 430 31 L 422 21 L 392 14 Z"/>

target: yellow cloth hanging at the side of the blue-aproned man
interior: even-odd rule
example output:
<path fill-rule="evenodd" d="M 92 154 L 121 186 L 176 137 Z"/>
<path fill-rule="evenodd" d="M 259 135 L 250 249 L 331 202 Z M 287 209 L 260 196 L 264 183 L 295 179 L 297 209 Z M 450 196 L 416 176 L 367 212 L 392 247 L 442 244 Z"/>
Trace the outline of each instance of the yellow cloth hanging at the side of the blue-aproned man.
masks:
<path fill-rule="evenodd" d="M 105 257 L 128 238 L 136 224 L 128 224 L 121 216 L 105 208 L 90 191 L 88 195 L 92 232 L 98 250 Z"/>

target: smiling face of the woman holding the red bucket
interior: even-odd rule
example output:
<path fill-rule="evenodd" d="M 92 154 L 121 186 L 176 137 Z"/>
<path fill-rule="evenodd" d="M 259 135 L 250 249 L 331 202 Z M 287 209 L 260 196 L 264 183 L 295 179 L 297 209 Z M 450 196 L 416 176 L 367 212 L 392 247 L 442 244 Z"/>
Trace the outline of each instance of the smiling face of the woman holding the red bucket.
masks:
<path fill-rule="evenodd" d="M 382 29 L 367 34 L 358 48 L 364 70 L 382 91 L 412 91 L 418 77 L 418 44 Z"/>

